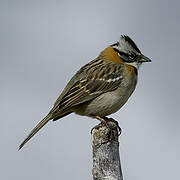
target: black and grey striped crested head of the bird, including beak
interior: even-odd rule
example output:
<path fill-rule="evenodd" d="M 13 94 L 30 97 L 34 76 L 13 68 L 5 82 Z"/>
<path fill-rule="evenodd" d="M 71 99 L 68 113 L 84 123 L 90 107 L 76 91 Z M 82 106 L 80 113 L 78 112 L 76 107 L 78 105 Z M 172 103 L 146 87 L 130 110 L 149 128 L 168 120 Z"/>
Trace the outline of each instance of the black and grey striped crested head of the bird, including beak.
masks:
<path fill-rule="evenodd" d="M 144 56 L 135 42 L 126 35 L 122 35 L 119 42 L 112 44 L 111 47 L 118 52 L 120 58 L 129 65 L 137 69 L 143 62 L 151 62 L 151 60 Z"/>

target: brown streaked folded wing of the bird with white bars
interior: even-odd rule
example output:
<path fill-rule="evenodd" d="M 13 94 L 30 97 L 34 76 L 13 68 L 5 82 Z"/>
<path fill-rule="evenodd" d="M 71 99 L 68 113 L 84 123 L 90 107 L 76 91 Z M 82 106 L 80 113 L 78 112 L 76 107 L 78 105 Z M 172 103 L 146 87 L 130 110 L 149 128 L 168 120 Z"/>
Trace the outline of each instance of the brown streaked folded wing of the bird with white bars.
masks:
<path fill-rule="evenodd" d="M 68 110 L 119 87 L 124 66 L 95 59 L 82 67 L 66 86 L 51 112 Z M 52 112 L 52 113 L 53 113 Z"/>

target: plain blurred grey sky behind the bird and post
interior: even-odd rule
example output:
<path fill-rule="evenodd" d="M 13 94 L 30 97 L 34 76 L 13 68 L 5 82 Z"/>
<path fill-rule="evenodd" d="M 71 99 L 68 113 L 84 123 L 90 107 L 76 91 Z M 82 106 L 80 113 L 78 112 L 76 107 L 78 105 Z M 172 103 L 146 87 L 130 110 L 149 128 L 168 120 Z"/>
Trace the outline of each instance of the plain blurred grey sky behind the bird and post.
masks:
<path fill-rule="evenodd" d="M 0 0 L 0 179 L 92 179 L 90 130 L 69 115 L 18 145 L 71 76 L 127 34 L 152 59 L 111 115 L 125 180 L 180 179 L 180 1 Z"/>

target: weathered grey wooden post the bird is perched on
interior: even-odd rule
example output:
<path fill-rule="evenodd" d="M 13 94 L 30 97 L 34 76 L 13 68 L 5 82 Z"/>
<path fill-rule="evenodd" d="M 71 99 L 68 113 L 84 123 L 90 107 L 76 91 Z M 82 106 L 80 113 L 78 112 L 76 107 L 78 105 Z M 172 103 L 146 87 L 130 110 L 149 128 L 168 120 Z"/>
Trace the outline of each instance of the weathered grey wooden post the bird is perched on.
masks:
<path fill-rule="evenodd" d="M 119 126 L 113 119 L 100 123 L 91 131 L 93 180 L 123 180 L 119 156 Z"/>

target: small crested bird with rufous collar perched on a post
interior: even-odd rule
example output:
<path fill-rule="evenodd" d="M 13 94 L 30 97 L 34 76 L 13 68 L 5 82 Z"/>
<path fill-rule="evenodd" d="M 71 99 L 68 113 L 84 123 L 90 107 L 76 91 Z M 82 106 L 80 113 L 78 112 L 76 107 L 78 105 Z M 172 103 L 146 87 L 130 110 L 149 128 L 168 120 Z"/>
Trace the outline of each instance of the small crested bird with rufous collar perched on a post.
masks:
<path fill-rule="evenodd" d="M 50 120 L 71 113 L 101 122 L 117 112 L 135 90 L 139 67 L 151 59 L 141 53 L 128 35 L 105 48 L 97 58 L 81 67 L 57 98 L 54 106 L 20 144 L 19 150 Z"/>

